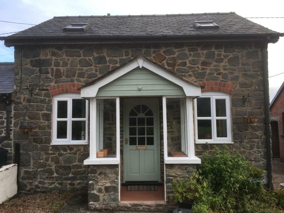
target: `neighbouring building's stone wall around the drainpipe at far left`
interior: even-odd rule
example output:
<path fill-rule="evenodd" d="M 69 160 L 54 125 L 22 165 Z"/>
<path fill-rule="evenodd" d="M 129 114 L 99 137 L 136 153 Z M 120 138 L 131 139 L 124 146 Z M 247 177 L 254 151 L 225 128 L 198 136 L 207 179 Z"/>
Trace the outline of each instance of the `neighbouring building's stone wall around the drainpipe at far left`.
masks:
<path fill-rule="evenodd" d="M 13 107 L 13 105 L 12 105 Z M 4 101 L 0 101 L 0 138 L 6 135 L 6 104 Z M 6 149 L 7 153 L 7 165 L 14 163 L 14 144 L 13 144 L 13 117 L 11 116 L 11 129 L 10 129 L 10 138 L 5 140 L 0 144 L 0 147 Z"/>

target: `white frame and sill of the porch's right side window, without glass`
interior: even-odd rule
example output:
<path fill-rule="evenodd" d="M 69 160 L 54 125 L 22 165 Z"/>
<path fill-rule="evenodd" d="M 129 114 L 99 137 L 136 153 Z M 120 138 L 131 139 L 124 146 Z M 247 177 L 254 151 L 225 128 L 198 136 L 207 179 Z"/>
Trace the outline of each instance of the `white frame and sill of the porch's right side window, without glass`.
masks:
<path fill-rule="evenodd" d="M 186 124 L 187 157 L 168 157 L 168 131 L 167 131 L 167 98 L 186 98 Z M 165 164 L 201 164 L 201 159 L 195 156 L 193 135 L 193 97 L 190 96 L 163 96 L 163 136 L 164 136 L 164 162 Z"/>

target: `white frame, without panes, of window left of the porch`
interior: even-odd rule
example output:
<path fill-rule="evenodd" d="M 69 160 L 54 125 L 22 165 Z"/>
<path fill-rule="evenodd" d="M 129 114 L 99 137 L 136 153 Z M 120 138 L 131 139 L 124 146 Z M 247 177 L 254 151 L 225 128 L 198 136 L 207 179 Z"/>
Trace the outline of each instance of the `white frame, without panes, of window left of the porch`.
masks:
<path fill-rule="evenodd" d="M 88 144 L 88 101 L 86 100 L 85 118 L 72 118 L 72 99 L 82 99 L 78 93 L 63 93 L 53 96 L 53 140 L 51 145 L 85 145 Z M 58 101 L 67 101 L 67 118 L 57 118 Z M 57 121 L 67 121 L 67 138 L 57 139 Z M 72 121 L 85 121 L 85 140 L 71 140 L 72 138 Z"/>

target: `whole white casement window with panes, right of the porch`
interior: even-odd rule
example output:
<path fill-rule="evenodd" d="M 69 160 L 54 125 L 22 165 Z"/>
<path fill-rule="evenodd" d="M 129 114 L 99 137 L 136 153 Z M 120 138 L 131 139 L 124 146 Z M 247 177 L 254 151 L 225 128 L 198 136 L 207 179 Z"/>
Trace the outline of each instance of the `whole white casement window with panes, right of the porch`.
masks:
<path fill-rule="evenodd" d="M 230 97 L 226 93 L 204 92 L 195 100 L 195 142 L 231 142 Z"/>

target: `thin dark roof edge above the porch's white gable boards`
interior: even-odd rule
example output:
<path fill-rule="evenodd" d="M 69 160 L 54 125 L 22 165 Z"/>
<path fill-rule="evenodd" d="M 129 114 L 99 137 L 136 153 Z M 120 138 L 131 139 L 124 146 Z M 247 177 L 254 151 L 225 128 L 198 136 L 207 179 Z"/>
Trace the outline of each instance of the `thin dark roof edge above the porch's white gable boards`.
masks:
<path fill-rule="evenodd" d="M 167 68 L 161 66 L 160 64 L 158 64 L 158 63 L 156 63 L 156 62 L 153 62 L 153 61 L 149 60 L 144 54 L 139 54 L 139 55 L 137 55 L 135 58 L 133 58 L 133 59 L 129 60 L 128 62 L 126 62 L 125 64 L 122 64 L 121 66 L 118 66 L 117 68 L 115 68 L 115 69 L 113 69 L 113 70 L 107 72 L 106 74 L 100 76 L 99 78 L 94 79 L 93 81 L 91 81 L 91 82 L 89 82 L 89 83 L 86 83 L 86 84 L 83 85 L 82 87 L 78 88 L 78 90 L 81 90 L 81 88 L 83 88 L 83 87 L 88 87 L 88 86 L 90 86 L 90 85 L 95 84 L 96 82 L 98 82 L 98 81 L 104 79 L 106 76 L 109 76 L 109 75 L 115 73 L 116 71 L 120 70 L 120 69 L 123 68 L 124 66 L 126 66 L 126 65 L 130 64 L 131 62 L 137 60 L 138 58 L 143 58 L 144 60 L 150 62 L 151 64 L 154 64 L 155 66 L 158 66 L 159 68 L 165 70 L 166 72 L 172 74 L 173 76 L 178 77 L 179 79 L 181 79 L 181 80 L 183 80 L 183 81 L 185 81 L 185 82 L 187 82 L 187 83 L 193 84 L 193 85 L 195 85 L 195 86 L 197 86 L 197 87 L 201 87 L 202 89 L 204 88 L 204 86 L 199 85 L 199 84 L 197 84 L 197 83 L 195 83 L 195 82 L 189 80 L 188 78 L 186 78 L 186 77 L 184 77 L 184 76 L 182 76 L 182 75 L 180 75 L 180 74 L 178 74 L 178 73 L 176 73 L 176 72 L 174 72 L 174 71 L 172 71 L 172 70 L 170 70 L 170 69 L 167 69 Z"/>

